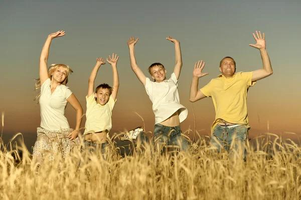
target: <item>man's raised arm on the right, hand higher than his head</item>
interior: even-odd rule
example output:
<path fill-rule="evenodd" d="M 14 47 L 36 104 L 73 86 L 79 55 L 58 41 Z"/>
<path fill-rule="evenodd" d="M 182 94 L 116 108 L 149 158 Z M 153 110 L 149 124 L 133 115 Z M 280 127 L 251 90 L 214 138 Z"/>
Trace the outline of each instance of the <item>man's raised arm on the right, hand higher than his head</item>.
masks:
<path fill-rule="evenodd" d="M 253 33 L 253 37 L 256 41 L 256 45 L 250 44 L 251 47 L 255 47 L 260 50 L 260 55 L 262 59 L 263 69 L 253 71 L 252 81 L 257 81 L 259 79 L 263 79 L 273 73 L 271 62 L 269 60 L 268 54 L 266 52 L 265 45 L 265 35 L 263 33 L 263 37 L 259 31 L 256 31 L 256 35 Z"/>

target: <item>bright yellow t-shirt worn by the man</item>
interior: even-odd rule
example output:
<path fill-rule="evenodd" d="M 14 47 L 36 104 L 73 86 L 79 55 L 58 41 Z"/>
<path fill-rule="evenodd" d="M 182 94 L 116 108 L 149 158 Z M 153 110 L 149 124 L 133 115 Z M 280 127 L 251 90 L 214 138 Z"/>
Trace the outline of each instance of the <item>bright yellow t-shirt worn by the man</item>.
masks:
<path fill-rule="evenodd" d="M 249 126 L 247 112 L 247 92 L 252 81 L 253 72 L 238 72 L 232 77 L 226 78 L 219 75 L 212 79 L 201 92 L 207 97 L 212 97 L 215 108 L 215 121 L 211 132 L 221 119 L 234 124 L 246 124 Z"/>

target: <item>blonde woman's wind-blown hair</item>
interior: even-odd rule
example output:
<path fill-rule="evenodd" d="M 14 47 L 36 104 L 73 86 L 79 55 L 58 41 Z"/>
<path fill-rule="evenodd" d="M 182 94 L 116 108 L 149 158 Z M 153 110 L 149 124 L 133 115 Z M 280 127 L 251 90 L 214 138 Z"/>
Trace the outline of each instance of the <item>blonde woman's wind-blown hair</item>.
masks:
<path fill-rule="evenodd" d="M 63 82 L 61 82 L 62 85 L 66 85 L 68 83 L 68 75 L 69 72 L 72 73 L 72 69 L 68 66 L 68 65 L 64 65 L 64 64 L 52 64 L 49 66 L 48 68 L 48 77 L 50 78 L 50 80 L 52 80 L 52 73 L 57 70 L 59 67 L 63 67 L 66 70 L 66 78 Z M 35 79 L 36 80 L 36 84 L 35 84 L 35 92 L 37 92 L 37 96 L 34 99 L 34 101 L 37 101 L 37 103 L 39 103 L 39 98 L 41 96 L 41 90 L 38 91 L 41 88 L 41 80 L 40 78 Z"/>

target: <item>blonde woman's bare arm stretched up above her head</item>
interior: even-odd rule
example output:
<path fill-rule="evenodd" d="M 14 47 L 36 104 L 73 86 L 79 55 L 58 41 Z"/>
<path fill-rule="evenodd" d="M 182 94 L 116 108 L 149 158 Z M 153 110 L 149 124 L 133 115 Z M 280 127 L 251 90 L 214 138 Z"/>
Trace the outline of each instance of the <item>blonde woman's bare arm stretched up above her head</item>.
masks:
<path fill-rule="evenodd" d="M 47 37 L 47 40 L 46 40 L 46 42 L 43 46 L 41 56 L 40 56 L 40 81 L 41 81 L 41 85 L 43 85 L 43 83 L 49 78 L 47 60 L 48 60 L 48 56 L 49 56 L 49 48 L 50 48 L 51 41 L 54 38 L 61 37 L 61 36 L 64 36 L 64 35 L 65 35 L 65 31 L 58 31 L 56 33 L 50 34 Z"/>

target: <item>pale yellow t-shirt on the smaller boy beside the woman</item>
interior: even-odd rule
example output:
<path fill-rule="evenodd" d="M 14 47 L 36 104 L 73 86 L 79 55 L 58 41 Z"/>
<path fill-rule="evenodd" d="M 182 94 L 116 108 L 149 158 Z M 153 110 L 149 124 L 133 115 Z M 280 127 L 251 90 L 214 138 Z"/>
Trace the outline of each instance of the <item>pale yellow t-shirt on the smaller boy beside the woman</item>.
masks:
<path fill-rule="evenodd" d="M 110 96 L 106 104 L 100 105 L 96 102 L 94 93 L 89 97 L 86 96 L 87 111 L 84 134 L 103 130 L 110 132 L 112 128 L 112 110 L 116 100 L 114 101 Z"/>

